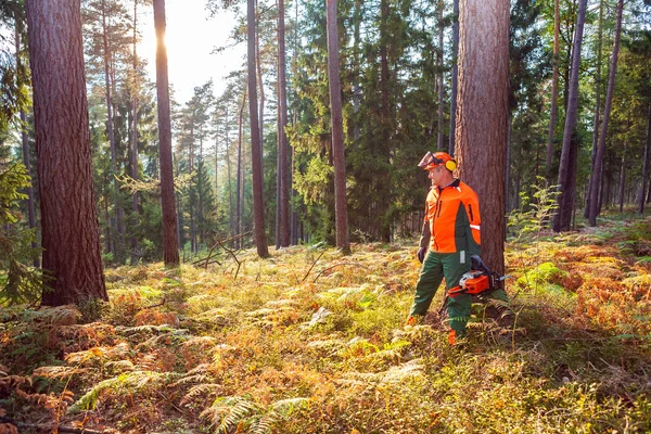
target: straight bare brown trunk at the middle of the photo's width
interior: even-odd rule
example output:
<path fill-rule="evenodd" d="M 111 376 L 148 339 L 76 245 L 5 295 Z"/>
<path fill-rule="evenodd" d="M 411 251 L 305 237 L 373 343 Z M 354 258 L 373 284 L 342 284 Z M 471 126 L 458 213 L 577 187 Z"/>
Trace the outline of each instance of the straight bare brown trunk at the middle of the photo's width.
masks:
<path fill-rule="evenodd" d="M 336 246 L 350 253 L 348 210 L 346 199 L 346 161 L 344 155 L 344 126 L 342 117 L 342 88 L 339 65 L 339 30 L 336 0 L 326 0 L 328 29 L 328 81 L 330 87 L 330 123 L 332 129 L 332 157 L 334 164 L 334 220 Z"/>

